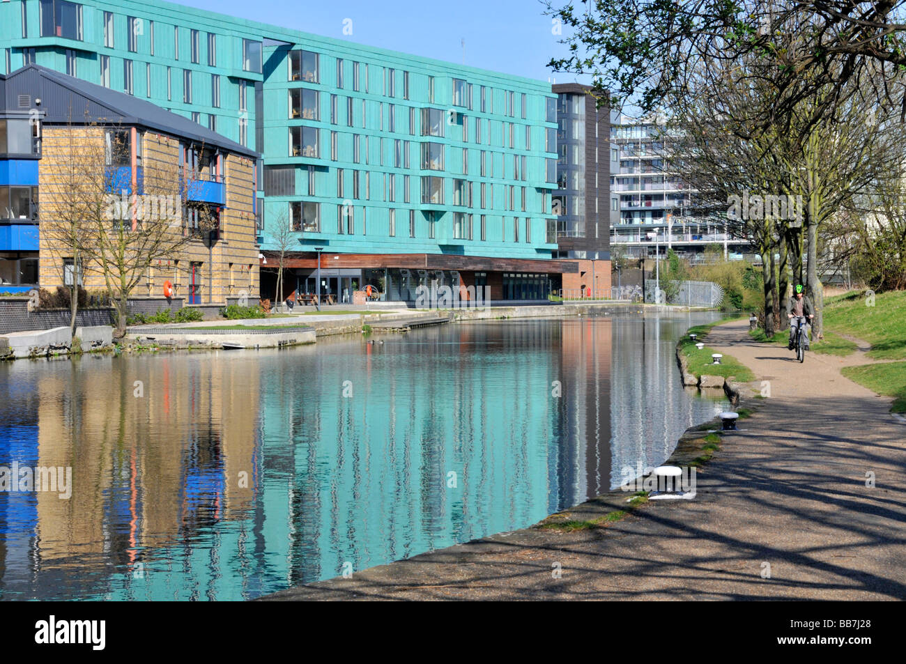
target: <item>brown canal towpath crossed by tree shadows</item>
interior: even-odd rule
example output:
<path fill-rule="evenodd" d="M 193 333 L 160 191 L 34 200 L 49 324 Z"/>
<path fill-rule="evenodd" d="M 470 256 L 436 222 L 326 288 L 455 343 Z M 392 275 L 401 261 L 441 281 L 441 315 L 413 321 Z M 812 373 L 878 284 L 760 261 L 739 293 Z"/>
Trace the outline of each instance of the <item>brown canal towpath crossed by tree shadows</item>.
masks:
<path fill-rule="evenodd" d="M 725 438 L 692 501 L 620 522 L 526 529 L 275 593 L 268 599 L 906 599 L 906 426 L 839 358 L 714 328 L 771 397 Z M 679 380 L 679 379 L 678 379 Z M 872 473 L 875 486 L 866 486 Z M 556 565 L 562 569 L 555 578 Z M 769 578 L 765 578 L 769 576 Z"/>

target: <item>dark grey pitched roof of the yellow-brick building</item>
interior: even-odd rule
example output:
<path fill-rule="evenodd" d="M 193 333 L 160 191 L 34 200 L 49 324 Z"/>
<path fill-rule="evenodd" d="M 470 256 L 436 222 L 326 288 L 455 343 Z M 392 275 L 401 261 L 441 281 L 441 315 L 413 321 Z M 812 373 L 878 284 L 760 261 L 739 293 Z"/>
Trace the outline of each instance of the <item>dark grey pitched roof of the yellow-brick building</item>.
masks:
<path fill-rule="evenodd" d="M 202 127 L 181 115 L 165 111 L 157 104 L 137 99 L 125 92 L 113 91 L 73 76 L 67 76 L 38 64 L 28 64 L 15 72 L 0 74 L 0 101 L 10 111 L 19 111 L 19 95 L 41 99 L 45 122 L 111 122 L 136 125 L 171 134 L 178 138 L 217 146 L 228 152 L 258 158 L 248 149 L 215 131 Z M 34 103 L 34 102 L 33 102 Z"/>

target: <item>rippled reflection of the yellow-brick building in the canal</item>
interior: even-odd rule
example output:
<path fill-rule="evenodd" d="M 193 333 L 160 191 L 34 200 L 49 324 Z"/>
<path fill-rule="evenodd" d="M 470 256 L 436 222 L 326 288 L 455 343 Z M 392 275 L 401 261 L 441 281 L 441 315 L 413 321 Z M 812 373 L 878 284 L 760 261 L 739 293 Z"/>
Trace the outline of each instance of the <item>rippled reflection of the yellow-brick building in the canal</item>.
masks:
<path fill-rule="evenodd" d="M 72 467 L 72 497 L 30 496 L 35 572 L 101 577 L 251 510 L 258 373 L 248 361 L 92 356 L 38 375 L 34 464 Z"/>

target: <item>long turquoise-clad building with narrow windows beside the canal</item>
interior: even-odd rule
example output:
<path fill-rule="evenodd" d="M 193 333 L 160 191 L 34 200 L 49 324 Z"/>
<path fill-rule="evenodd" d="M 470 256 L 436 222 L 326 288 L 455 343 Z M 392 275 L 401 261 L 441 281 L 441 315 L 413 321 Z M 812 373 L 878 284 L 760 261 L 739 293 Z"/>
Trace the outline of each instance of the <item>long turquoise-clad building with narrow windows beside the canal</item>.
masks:
<path fill-rule="evenodd" d="M 319 261 L 321 293 L 350 302 L 366 285 L 394 301 L 419 285 L 544 299 L 577 271 L 553 258 L 546 82 L 135 0 L 0 3 L 0 71 L 28 63 L 260 152 L 263 297 L 313 294 Z"/>

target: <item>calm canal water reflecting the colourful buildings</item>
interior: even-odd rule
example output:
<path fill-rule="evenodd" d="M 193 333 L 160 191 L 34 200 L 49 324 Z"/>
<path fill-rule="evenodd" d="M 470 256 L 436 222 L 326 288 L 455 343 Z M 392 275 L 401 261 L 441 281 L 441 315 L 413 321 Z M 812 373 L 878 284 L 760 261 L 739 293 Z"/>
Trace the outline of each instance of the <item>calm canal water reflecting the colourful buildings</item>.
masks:
<path fill-rule="evenodd" d="M 250 599 L 535 524 L 726 407 L 674 355 L 714 317 L 2 363 L 0 598 Z"/>

